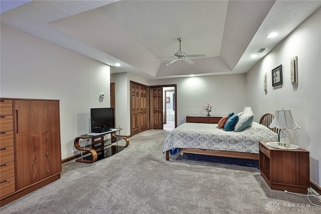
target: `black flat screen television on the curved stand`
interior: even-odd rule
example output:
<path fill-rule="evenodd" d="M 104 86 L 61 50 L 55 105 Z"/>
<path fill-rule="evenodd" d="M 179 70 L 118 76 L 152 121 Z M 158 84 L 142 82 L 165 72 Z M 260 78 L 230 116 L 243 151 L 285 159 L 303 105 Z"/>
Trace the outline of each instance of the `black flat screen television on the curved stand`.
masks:
<path fill-rule="evenodd" d="M 108 132 L 115 128 L 115 117 L 113 108 L 90 109 L 91 132 Z"/>

